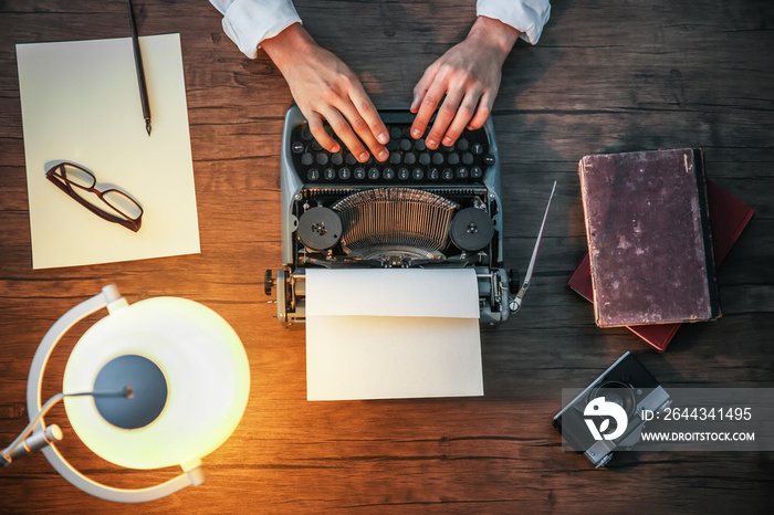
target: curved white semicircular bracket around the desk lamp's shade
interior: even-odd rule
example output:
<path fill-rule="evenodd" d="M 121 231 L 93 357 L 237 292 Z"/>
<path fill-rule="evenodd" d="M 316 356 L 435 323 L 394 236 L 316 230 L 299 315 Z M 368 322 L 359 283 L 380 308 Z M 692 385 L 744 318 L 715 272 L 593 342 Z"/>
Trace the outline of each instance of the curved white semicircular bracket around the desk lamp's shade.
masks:
<path fill-rule="evenodd" d="M 49 358 L 51 357 L 54 347 L 56 347 L 56 344 L 59 344 L 60 339 L 62 339 L 62 336 L 64 336 L 64 334 L 70 330 L 73 325 L 88 315 L 96 313 L 103 307 L 107 307 L 107 311 L 113 313 L 115 309 L 119 309 L 127 305 L 128 303 L 126 299 L 118 293 L 118 288 L 114 284 L 111 284 L 102 288 L 102 293 L 87 298 L 70 309 L 59 320 L 56 320 L 53 326 L 51 326 L 38 347 L 35 356 L 32 358 L 32 366 L 30 367 L 30 375 L 27 381 L 27 411 L 31 422 L 35 420 L 42 409 L 41 392 L 43 386 L 43 371 L 45 370 L 45 366 L 49 362 Z M 35 431 L 44 430 L 45 424 L 41 419 L 35 427 Z M 184 474 L 180 474 L 166 483 L 137 490 L 115 488 L 97 483 L 81 474 L 70 463 L 67 463 L 53 443 L 43 448 L 42 452 L 56 472 L 59 472 L 71 484 L 91 495 L 94 495 L 95 497 L 101 497 L 107 501 L 119 503 L 142 503 L 146 501 L 155 501 L 178 492 L 186 486 L 198 486 L 205 482 L 200 467 L 201 462 L 195 461 L 184 465 Z"/>

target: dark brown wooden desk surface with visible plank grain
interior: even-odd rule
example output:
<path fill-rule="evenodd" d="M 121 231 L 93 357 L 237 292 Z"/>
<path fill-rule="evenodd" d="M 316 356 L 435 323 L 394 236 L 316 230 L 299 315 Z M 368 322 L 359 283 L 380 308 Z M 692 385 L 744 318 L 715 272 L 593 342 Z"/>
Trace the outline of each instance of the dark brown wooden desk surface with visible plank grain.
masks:
<path fill-rule="evenodd" d="M 299 1 L 310 32 L 357 72 L 377 106 L 408 106 L 422 71 L 473 21 L 472 1 Z M 249 61 L 205 0 L 138 0 L 142 34 L 179 31 L 201 254 L 31 269 L 14 42 L 129 34 L 124 2 L 0 4 L 0 444 L 27 423 L 42 336 L 115 282 L 129 302 L 175 295 L 219 312 L 241 336 L 252 392 L 241 425 L 203 460 L 207 483 L 155 512 L 768 512 L 773 453 L 627 454 L 595 471 L 551 425 L 561 388 L 584 387 L 626 350 L 665 386 L 773 387 L 774 9 L 768 0 L 555 2 L 540 44 L 503 70 L 494 126 L 504 164 L 506 260 L 525 267 L 553 180 L 557 197 L 523 311 L 483 339 L 485 396 L 307 402 L 304 330 L 271 316 L 263 271 L 280 265 L 280 136 L 289 90 Z M 586 251 L 577 161 L 586 154 L 700 146 L 709 177 L 756 210 L 720 271 L 724 317 L 683 326 L 658 355 L 602 330 L 565 288 Z M 82 329 L 81 329 L 82 330 Z M 77 333 L 77 330 L 76 330 Z M 70 338 L 72 345 L 75 337 Z M 66 345 L 50 364 L 61 385 Z M 50 422 L 67 424 L 60 407 Z M 61 445 L 85 473 L 148 486 Z M 38 454 L 0 470 L 0 511 L 134 513 L 66 483 Z"/>

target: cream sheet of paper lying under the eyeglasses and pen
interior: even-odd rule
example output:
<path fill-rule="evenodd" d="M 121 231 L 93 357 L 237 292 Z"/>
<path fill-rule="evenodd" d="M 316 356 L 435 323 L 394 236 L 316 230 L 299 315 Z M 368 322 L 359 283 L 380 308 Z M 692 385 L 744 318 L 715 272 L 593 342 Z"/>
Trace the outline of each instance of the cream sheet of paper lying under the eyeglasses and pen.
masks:
<path fill-rule="evenodd" d="M 153 132 L 132 40 L 17 44 L 34 269 L 200 252 L 179 34 L 140 38 Z M 60 161 L 92 170 L 143 209 L 135 233 L 45 178 Z"/>

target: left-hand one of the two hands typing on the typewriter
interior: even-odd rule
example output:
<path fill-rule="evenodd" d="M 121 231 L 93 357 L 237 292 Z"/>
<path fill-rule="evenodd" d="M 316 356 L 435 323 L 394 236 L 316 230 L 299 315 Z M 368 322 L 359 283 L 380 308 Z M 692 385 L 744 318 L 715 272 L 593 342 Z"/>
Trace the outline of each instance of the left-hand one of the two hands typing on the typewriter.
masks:
<path fill-rule="evenodd" d="M 326 120 L 358 161 L 368 160 L 368 149 L 377 160 L 387 159 L 387 127 L 357 75 L 342 60 L 321 48 L 299 23 L 263 40 L 261 46 L 287 81 L 312 135 L 323 148 L 341 150 L 323 127 Z"/>

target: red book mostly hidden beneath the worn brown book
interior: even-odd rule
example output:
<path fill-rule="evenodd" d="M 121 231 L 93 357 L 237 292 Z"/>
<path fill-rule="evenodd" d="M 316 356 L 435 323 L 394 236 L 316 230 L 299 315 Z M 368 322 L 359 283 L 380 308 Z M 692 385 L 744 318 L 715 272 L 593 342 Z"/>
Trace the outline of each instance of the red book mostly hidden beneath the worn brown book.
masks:
<path fill-rule="evenodd" d="M 715 266 L 720 266 L 755 211 L 711 180 L 707 180 L 707 196 L 710 204 L 714 261 Z M 567 281 L 567 286 L 588 302 L 594 302 L 588 254 Z M 680 324 L 638 325 L 626 328 L 659 353 L 663 353 L 680 328 Z"/>

